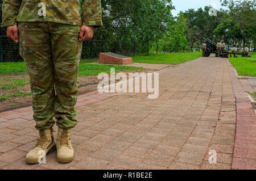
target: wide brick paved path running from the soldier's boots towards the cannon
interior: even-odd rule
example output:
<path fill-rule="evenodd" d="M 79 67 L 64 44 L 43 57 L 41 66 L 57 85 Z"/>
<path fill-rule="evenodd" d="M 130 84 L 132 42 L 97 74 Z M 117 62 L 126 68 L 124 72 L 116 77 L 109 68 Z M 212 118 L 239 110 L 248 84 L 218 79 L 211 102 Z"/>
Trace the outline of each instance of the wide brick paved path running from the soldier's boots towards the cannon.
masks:
<path fill-rule="evenodd" d="M 79 96 L 75 160 L 64 165 L 56 151 L 46 164 L 26 165 L 38 137 L 31 108 L 2 112 L 0 168 L 256 169 L 255 114 L 243 85 L 251 89 L 227 59 L 210 57 L 160 71 L 155 100 L 147 94 Z M 209 150 L 217 151 L 216 164 L 208 162 Z"/>

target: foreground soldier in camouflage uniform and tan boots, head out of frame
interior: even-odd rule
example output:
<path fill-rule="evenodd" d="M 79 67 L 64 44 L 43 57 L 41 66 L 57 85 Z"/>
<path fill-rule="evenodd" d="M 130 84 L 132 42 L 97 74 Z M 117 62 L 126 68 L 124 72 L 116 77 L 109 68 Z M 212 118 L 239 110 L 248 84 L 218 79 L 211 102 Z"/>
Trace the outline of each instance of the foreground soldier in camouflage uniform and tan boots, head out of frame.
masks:
<path fill-rule="evenodd" d="M 38 163 L 39 151 L 55 147 L 53 124 L 57 120 L 57 161 L 71 162 L 71 128 L 77 120 L 77 72 L 82 41 L 101 27 L 101 1 L 3 0 L 2 26 L 7 36 L 20 43 L 20 55 L 30 75 L 34 120 L 40 138 L 26 156 Z M 17 27 L 18 25 L 18 27 Z M 19 33 L 19 34 L 18 34 Z"/>

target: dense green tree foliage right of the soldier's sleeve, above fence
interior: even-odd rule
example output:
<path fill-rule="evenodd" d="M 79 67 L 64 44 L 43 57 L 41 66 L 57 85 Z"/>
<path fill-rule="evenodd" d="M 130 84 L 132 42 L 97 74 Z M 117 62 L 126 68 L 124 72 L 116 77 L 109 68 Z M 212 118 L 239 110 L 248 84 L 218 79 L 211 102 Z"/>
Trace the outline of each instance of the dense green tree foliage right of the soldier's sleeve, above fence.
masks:
<path fill-rule="evenodd" d="M 172 19 L 171 0 L 102 0 L 104 26 L 97 40 L 157 41 Z"/>

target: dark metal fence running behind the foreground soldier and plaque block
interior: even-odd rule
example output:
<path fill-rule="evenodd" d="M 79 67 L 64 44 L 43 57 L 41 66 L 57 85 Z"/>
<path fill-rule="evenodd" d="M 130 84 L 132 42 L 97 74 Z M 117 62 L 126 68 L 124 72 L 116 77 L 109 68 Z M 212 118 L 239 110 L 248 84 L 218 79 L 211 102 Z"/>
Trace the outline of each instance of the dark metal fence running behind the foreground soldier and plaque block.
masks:
<path fill-rule="evenodd" d="M 81 59 L 98 58 L 101 52 L 113 52 L 134 57 L 147 56 L 152 53 L 180 53 L 191 50 L 188 45 L 168 43 L 88 40 L 83 43 Z M 19 55 L 19 44 L 14 43 L 7 36 L 0 36 L 0 61 L 22 61 L 22 57 Z"/>

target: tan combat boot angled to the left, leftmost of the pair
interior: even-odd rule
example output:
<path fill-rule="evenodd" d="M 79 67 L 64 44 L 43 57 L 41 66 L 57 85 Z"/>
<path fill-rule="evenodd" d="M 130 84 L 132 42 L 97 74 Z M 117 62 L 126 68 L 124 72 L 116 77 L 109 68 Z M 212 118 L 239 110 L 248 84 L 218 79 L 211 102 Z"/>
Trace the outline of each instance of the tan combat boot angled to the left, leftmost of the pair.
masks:
<path fill-rule="evenodd" d="M 26 163 L 39 163 L 38 158 L 42 156 L 43 151 L 45 151 L 45 154 L 47 154 L 50 150 L 55 149 L 55 142 L 52 132 L 52 128 L 39 131 L 40 138 L 38 139 L 38 143 L 32 150 L 28 152 L 26 156 Z"/>

